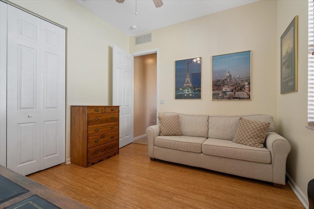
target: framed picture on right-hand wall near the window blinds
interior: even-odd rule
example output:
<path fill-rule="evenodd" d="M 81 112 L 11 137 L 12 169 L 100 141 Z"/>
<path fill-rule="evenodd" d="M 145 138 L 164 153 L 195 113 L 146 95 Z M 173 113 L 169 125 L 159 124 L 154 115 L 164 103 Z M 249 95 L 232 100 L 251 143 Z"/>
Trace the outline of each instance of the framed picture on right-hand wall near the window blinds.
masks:
<path fill-rule="evenodd" d="M 280 38 L 280 93 L 298 91 L 298 16 Z"/>

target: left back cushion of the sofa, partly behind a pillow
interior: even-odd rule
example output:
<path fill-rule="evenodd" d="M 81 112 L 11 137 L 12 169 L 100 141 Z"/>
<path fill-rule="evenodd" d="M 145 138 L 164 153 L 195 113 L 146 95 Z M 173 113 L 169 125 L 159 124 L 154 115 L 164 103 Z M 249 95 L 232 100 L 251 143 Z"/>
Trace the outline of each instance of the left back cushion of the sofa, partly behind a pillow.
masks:
<path fill-rule="evenodd" d="M 208 138 L 208 115 L 163 113 L 164 116 L 179 115 L 181 133 L 184 136 Z"/>

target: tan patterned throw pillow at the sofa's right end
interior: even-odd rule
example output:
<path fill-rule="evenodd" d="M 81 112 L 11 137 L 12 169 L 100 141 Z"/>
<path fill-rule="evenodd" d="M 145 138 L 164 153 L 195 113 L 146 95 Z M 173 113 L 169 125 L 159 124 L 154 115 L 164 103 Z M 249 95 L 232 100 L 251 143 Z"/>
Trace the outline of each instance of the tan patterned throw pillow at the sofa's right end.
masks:
<path fill-rule="evenodd" d="M 258 122 L 239 117 L 235 138 L 232 141 L 262 148 L 269 126 L 269 122 Z"/>

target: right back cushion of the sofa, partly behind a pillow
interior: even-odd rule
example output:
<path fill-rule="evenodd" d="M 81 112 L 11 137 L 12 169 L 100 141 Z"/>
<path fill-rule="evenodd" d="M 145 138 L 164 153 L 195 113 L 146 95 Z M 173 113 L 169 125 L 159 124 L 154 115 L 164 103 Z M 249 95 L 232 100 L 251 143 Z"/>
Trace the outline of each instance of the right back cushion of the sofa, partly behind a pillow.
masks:
<path fill-rule="evenodd" d="M 275 130 L 273 117 L 269 115 L 209 116 L 208 138 L 234 139 L 239 117 L 259 122 L 269 122 L 270 126 L 267 132 Z"/>

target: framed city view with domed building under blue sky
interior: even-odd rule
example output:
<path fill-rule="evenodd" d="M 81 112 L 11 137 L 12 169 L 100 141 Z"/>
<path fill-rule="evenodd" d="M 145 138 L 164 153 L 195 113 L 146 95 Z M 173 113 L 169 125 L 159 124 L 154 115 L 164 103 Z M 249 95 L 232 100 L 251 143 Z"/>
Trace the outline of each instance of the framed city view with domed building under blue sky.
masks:
<path fill-rule="evenodd" d="M 251 51 L 212 56 L 212 100 L 251 99 Z"/>

